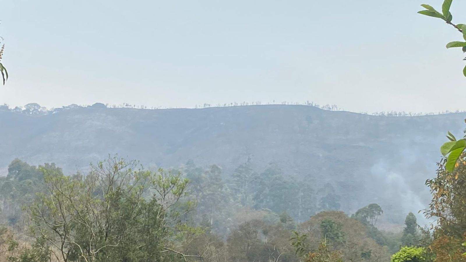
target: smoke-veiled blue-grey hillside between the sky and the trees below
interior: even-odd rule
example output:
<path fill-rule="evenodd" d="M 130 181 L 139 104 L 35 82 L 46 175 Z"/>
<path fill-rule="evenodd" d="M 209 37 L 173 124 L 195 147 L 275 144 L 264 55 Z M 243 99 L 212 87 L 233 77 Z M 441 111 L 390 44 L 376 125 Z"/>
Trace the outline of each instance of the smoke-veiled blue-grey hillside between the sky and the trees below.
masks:
<path fill-rule="evenodd" d="M 345 212 L 379 203 L 400 222 L 428 204 L 419 181 L 434 176 L 446 131 L 461 136 L 464 118 L 370 116 L 304 105 L 101 105 L 38 115 L 0 110 L 0 168 L 19 158 L 55 162 L 71 173 L 118 153 L 146 167 L 217 164 L 227 176 L 250 159 L 258 171 L 274 163 L 291 178 L 312 181 L 316 191 L 329 183 Z"/>

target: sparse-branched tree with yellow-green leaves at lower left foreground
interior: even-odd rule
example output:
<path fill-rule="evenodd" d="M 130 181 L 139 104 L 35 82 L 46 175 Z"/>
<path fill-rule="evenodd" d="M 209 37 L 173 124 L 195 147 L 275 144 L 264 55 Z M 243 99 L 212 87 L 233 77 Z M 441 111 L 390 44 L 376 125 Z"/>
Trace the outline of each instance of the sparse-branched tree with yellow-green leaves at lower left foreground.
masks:
<path fill-rule="evenodd" d="M 184 255 L 189 236 L 182 223 L 192 207 L 183 201 L 180 175 L 137 169 L 137 162 L 113 157 L 91 166 L 87 176 L 64 176 L 42 168 L 47 185 L 29 207 L 31 234 L 55 259 L 71 261 L 173 261 Z M 179 248 L 178 246 L 178 248 Z"/>

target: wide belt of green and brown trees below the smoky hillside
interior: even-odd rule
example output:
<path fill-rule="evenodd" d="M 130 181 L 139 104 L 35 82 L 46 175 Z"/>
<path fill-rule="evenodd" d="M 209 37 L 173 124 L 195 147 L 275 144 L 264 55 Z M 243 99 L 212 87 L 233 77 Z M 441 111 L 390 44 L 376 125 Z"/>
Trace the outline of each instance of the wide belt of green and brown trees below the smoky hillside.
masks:
<path fill-rule="evenodd" d="M 192 161 L 152 171 L 113 156 L 64 175 L 55 164 L 14 159 L 0 179 L 0 254 L 37 262 L 300 261 L 325 240 L 344 260 L 386 261 L 397 250 L 402 234 L 375 227 L 377 204 L 347 215 L 335 193 L 315 199 L 310 186 L 280 173 L 272 165 L 260 179 L 246 162 L 225 177 L 217 165 Z M 304 252 L 291 244 L 294 235 L 308 235 Z"/>

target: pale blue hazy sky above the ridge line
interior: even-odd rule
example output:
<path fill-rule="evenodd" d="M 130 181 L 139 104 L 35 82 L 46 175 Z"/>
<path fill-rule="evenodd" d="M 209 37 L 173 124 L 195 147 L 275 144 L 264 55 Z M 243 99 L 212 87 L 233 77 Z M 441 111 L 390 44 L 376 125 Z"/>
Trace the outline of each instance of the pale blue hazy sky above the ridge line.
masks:
<path fill-rule="evenodd" d="M 437 9 L 443 0 L 425 0 Z M 3 0 L 0 104 L 281 101 L 466 110 L 459 32 L 418 0 Z M 464 23 L 465 1 L 452 4 Z M 463 18 L 463 19 L 461 19 Z"/>

